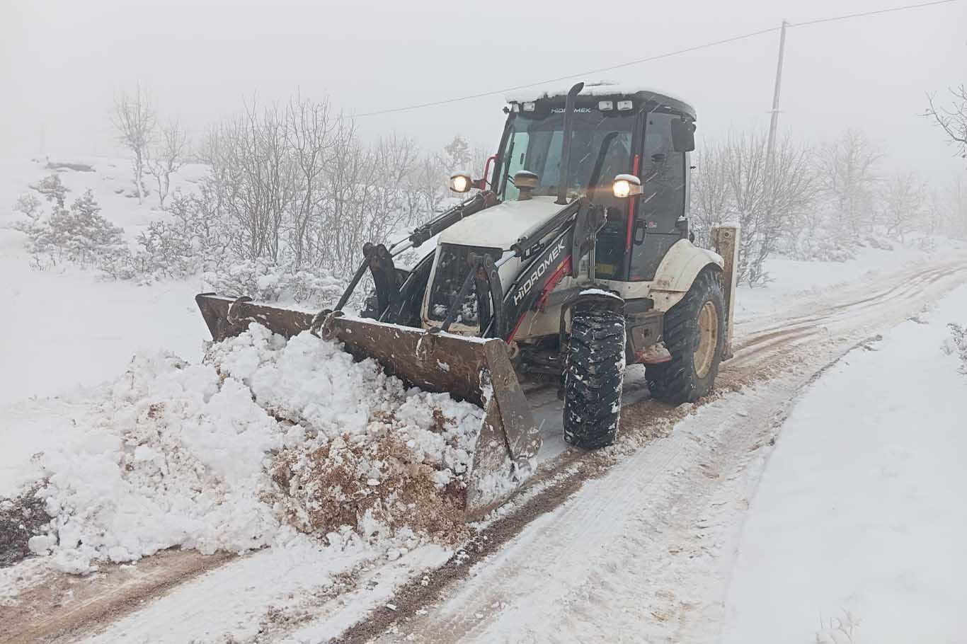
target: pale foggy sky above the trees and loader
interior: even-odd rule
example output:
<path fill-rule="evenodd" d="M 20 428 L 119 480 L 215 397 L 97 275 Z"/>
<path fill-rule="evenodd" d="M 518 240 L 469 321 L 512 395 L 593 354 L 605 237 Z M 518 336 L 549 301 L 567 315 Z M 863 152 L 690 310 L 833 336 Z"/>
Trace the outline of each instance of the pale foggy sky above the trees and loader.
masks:
<path fill-rule="evenodd" d="M 140 81 L 161 116 L 201 132 L 256 95 L 328 95 L 362 113 L 576 73 L 827 15 L 910 0 L 147 2 L 0 0 L 0 154 L 117 154 L 114 93 Z M 779 125 L 806 142 L 847 127 L 946 183 L 964 161 L 922 117 L 925 91 L 967 81 L 967 2 L 790 29 Z M 598 77 L 681 96 L 698 138 L 767 128 L 778 34 Z M 568 83 L 559 82 L 557 86 Z M 360 119 L 439 147 L 496 146 L 503 95 Z"/>

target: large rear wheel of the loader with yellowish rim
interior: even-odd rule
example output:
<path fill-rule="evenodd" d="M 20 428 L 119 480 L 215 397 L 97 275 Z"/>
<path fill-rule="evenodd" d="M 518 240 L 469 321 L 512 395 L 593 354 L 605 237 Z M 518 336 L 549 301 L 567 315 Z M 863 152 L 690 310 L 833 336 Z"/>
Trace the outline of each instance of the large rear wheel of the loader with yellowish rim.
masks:
<path fill-rule="evenodd" d="M 725 341 L 725 301 L 718 274 L 706 270 L 664 316 L 671 361 L 645 368 L 652 396 L 679 405 L 712 391 Z"/>

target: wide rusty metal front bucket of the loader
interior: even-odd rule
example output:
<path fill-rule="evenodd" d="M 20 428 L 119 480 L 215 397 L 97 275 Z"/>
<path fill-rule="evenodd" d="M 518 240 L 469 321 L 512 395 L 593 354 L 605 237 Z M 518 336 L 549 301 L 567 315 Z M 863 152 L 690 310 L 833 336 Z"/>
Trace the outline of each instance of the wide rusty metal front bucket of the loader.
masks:
<path fill-rule="evenodd" d="M 293 337 L 312 326 L 312 313 L 212 293 L 195 297 L 213 339 L 238 336 L 257 322 Z M 466 518 L 474 520 L 513 492 L 511 474 L 541 449 L 541 434 L 498 338 L 427 333 L 369 319 L 330 315 L 322 336 L 341 341 L 358 358 L 372 358 L 405 382 L 448 393 L 484 409 L 484 424 L 467 481 Z"/>

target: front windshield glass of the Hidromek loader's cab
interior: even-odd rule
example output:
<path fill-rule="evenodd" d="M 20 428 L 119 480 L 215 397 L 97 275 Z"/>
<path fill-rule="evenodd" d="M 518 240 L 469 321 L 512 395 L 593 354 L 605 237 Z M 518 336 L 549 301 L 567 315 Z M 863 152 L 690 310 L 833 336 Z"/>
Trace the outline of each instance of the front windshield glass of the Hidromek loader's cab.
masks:
<path fill-rule="evenodd" d="M 501 154 L 501 197 L 517 198 L 519 190 L 513 185 L 513 175 L 520 170 L 538 175 L 534 194 L 557 194 L 562 172 L 564 109 L 552 108 L 541 115 L 514 112 L 511 119 L 511 132 Z M 575 107 L 569 192 L 592 192 L 600 186 L 610 190 L 614 175 L 630 171 L 634 120 L 632 112 Z"/>

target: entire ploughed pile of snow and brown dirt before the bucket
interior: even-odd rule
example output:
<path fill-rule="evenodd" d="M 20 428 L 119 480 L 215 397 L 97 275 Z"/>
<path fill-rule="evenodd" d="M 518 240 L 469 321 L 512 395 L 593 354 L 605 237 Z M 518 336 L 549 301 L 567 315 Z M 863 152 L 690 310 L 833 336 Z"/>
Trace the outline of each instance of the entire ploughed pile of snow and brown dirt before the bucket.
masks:
<path fill-rule="evenodd" d="M 83 572 L 296 531 L 453 540 L 482 417 L 308 333 L 286 341 L 252 325 L 200 365 L 139 354 L 71 438 L 37 457 L 52 519 L 29 547 Z"/>

